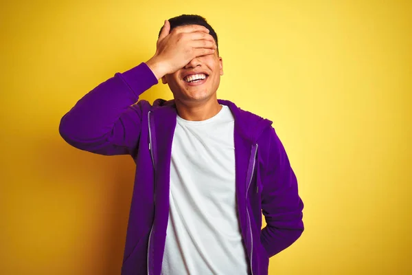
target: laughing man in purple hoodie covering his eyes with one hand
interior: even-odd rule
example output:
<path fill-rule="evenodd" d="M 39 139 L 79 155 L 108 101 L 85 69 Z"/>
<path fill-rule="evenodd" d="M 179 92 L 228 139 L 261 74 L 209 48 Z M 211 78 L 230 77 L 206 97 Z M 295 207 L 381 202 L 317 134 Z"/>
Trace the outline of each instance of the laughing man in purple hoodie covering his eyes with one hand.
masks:
<path fill-rule="evenodd" d="M 95 87 L 60 122 L 72 146 L 135 160 L 124 275 L 267 274 L 269 257 L 304 230 L 272 122 L 218 100 L 222 74 L 213 28 L 175 17 L 149 61 Z M 160 79 L 174 100 L 138 102 Z"/>

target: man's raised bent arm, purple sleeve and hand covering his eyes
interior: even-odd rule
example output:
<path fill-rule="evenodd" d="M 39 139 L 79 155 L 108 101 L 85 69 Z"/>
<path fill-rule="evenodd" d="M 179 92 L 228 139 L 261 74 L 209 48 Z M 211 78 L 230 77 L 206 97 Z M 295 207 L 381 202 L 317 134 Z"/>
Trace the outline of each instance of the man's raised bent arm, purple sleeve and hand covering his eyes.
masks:
<path fill-rule="evenodd" d="M 139 95 L 193 58 L 213 54 L 216 43 L 201 25 L 170 32 L 165 21 L 155 55 L 146 63 L 115 74 L 81 98 L 60 120 L 60 135 L 69 144 L 102 155 L 132 154 L 141 130 Z"/>

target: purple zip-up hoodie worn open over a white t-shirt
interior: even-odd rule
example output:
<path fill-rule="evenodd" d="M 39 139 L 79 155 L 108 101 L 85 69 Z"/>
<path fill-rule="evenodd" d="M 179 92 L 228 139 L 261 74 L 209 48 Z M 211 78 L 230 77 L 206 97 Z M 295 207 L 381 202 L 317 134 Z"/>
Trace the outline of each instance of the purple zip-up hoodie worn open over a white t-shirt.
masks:
<path fill-rule="evenodd" d="M 161 273 L 176 106 L 174 100 L 137 102 L 157 83 L 141 63 L 95 87 L 60 121 L 60 135 L 72 146 L 101 155 L 127 154 L 136 163 L 123 275 Z M 228 100 L 218 102 L 235 118 L 236 200 L 249 273 L 266 275 L 269 257 L 288 248 L 304 231 L 304 205 L 272 122 Z M 263 230 L 262 212 L 267 223 Z"/>

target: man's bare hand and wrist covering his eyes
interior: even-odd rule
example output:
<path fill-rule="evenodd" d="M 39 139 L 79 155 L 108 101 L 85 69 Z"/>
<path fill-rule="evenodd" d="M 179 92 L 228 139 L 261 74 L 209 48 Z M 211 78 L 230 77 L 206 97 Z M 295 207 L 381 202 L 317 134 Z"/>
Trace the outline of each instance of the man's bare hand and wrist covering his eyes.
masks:
<path fill-rule="evenodd" d="M 170 32 L 170 23 L 165 21 L 155 55 L 146 64 L 159 80 L 173 74 L 193 58 L 214 54 L 216 43 L 209 30 L 201 25 L 183 25 Z"/>

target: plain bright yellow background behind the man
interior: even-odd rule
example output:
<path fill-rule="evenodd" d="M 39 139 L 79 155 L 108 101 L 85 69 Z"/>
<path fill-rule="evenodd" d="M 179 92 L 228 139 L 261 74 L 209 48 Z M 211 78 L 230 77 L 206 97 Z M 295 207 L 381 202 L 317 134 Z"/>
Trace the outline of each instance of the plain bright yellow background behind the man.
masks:
<path fill-rule="evenodd" d="M 119 274 L 133 161 L 58 123 L 185 13 L 218 33 L 218 98 L 273 120 L 299 179 L 306 231 L 270 274 L 412 274 L 412 5 L 355 0 L 2 1 L 0 274 Z"/>

